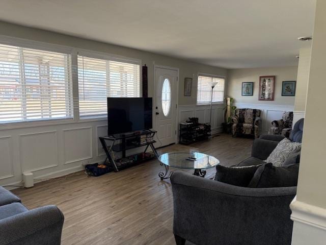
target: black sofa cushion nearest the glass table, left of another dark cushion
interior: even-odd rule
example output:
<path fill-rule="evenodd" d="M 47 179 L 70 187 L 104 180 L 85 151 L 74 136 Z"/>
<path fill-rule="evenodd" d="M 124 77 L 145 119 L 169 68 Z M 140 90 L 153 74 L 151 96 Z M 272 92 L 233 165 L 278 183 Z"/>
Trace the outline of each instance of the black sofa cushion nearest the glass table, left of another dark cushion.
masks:
<path fill-rule="evenodd" d="M 214 180 L 230 185 L 247 187 L 259 166 L 261 165 L 241 167 L 217 165 Z"/>

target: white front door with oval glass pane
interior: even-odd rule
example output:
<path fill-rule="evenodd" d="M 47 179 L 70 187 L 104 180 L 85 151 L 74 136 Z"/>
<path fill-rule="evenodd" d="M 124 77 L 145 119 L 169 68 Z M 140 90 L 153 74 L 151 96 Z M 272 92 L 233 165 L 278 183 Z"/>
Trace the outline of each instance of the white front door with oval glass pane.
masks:
<path fill-rule="evenodd" d="M 155 67 L 155 130 L 165 146 L 176 142 L 178 71 Z"/>

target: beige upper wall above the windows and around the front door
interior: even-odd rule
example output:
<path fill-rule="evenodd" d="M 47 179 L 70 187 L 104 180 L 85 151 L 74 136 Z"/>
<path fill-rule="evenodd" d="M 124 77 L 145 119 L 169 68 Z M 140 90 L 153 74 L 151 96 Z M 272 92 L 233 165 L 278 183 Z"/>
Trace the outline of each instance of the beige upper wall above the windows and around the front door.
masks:
<path fill-rule="evenodd" d="M 171 66 L 180 69 L 179 73 L 179 105 L 195 105 L 197 102 L 197 74 L 213 74 L 226 76 L 227 69 L 203 65 L 183 59 L 172 58 L 164 55 L 158 55 L 150 52 L 135 50 L 134 48 L 122 47 L 103 42 L 92 41 L 72 37 L 68 35 L 27 28 L 0 21 L 0 35 L 18 37 L 46 43 L 65 45 L 69 47 L 81 48 L 84 50 L 103 52 L 107 54 L 120 55 L 134 59 L 140 59 L 142 65 L 148 66 L 148 92 L 153 95 L 154 64 Z M 193 78 L 192 96 L 184 96 L 184 78 Z"/>

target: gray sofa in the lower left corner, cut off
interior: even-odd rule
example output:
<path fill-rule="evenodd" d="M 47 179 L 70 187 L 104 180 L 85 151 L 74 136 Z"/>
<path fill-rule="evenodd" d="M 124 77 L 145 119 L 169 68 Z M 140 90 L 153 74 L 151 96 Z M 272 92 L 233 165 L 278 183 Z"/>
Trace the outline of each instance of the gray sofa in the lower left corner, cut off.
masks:
<path fill-rule="evenodd" d="M 56 206 L 28 210 L 0 187 L 0 245 L 59 245 L 64 222 Z"/>

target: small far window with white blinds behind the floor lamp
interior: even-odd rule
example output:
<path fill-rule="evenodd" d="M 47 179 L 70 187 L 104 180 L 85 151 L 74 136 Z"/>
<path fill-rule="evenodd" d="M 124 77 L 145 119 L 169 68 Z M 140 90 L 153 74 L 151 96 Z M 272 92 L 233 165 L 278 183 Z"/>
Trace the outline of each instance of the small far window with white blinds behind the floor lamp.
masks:
<path fill-rule="evenodd" d="M 223 77 L 198 76 L 197 104 L 210 104 L 212 95 L 212 83 L 217 83 L 213 89 L 212 102 L 224 101 L 224 83 Z"/>

